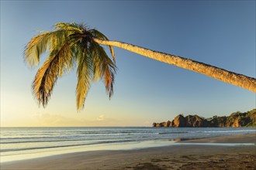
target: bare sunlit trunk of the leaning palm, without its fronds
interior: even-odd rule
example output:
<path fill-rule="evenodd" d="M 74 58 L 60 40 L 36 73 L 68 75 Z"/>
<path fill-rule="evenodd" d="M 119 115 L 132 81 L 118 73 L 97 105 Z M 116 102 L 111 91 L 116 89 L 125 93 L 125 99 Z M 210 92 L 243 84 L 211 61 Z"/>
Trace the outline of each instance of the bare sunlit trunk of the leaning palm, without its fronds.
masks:
<path fill-rule="evenodd" d="M 174 56 L 167 53 L 161 53 L 150 49 L 145 49 L 140 46 L 134 46 L 132 44 L 128 44 L 125 42 L 108 41 L 95 38 L 93 38 L 93 40 L 102 45 L 116 46 L 122 49 L 129 50 L 133 53 L 138 53 L 142 56 L 147 56 L 151 59 L 156 59 L 157 61 L 179 66 L 183 69 L 192 70 L 197 73 L 202 73 L 206 76 L 211 76 L 217 80 L 221 80 L 226 83 L 231 83 L 235 86 L 242 87 L 244 89 L 251 90 L 254 93 L 256 93 L 256 79 L 249 76 L 244 76 L 239 73 L 223 70 L 216 66 L 210 66 L 206 63 L 199 63 L 192 59 L 185 59 L 181 56 Z"/>

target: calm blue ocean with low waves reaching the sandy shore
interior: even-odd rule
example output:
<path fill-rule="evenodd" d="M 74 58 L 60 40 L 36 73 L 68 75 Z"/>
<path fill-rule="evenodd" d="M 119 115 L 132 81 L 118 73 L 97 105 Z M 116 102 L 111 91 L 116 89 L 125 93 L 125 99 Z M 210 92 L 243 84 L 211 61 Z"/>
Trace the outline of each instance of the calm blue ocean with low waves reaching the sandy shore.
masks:
<path fill-rule="evenodd" d="M 256 133 L 256 128 L 1 128 L 1 162 L 76 151 L 175 145 L 176 139 Z"/>

